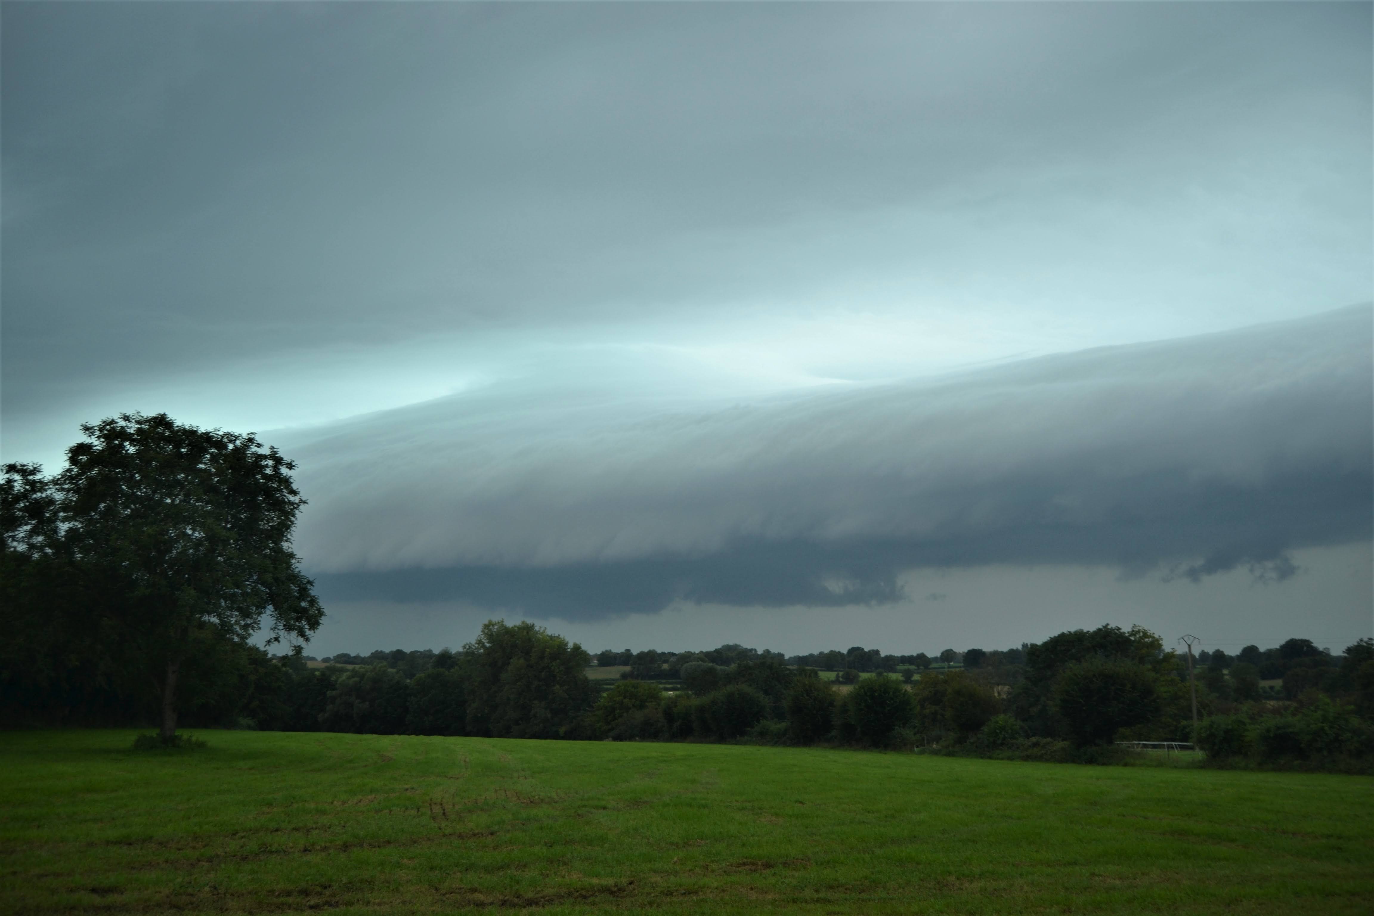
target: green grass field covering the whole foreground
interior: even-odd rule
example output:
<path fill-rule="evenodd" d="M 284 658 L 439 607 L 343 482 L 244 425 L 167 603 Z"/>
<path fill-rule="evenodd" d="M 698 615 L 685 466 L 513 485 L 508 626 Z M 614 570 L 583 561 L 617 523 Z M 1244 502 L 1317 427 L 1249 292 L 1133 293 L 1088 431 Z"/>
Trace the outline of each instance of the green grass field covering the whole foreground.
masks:
<path fill-rule="evenodd" d="M 1374 909 L 1364 777 L 201 735 L 0 735 L 0 912 Z"/>

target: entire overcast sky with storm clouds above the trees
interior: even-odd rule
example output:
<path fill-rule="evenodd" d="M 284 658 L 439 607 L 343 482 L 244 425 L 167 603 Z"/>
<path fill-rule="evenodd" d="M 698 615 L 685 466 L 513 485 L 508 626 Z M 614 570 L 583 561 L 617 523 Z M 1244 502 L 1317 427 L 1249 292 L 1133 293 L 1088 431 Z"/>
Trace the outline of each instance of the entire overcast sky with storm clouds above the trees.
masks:
<path fill-rule="evenodd" d="M 1374 632 L 1367 3 L 0 26 L 0 455 L 257 431 L 313 654 Z"/>

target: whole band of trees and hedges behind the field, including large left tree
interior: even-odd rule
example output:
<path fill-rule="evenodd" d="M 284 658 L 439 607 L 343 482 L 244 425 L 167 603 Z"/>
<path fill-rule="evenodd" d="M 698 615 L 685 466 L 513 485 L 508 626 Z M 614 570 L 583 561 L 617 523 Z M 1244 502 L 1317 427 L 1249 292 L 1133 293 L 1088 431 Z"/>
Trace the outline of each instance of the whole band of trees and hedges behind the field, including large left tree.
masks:
<path fill-rule="evenodd" d="M 1374 643 L 1292 639 L 1191 665 L 1135 626 L 934 658 L 851 647 L 592 656 L 492 621 L 458 651 L 331 656 L 290 534 L 294 467 L 251 435 L 165 415 L 82 426 L 52 477 L 0 486 L 0 724 L 157 722 L 284 731 L 611 740 L 763 740 L 1052 758 L 1197 740 L 1217 761 L 1367 759 Z M 268 647 L 250 643 L 264 621 Z M 273 644 L 290 651 L 269 654 Z M 938 661 L 937 661 L 938 659 Z M 348 665 L 345 667 L 345 663 Z M 834 681 L 824 673 L 834 672 Z M 666 689 L 665 689 L 666 688 Z M 1194 721 L 1197 725 L 1194 726 Z"/>

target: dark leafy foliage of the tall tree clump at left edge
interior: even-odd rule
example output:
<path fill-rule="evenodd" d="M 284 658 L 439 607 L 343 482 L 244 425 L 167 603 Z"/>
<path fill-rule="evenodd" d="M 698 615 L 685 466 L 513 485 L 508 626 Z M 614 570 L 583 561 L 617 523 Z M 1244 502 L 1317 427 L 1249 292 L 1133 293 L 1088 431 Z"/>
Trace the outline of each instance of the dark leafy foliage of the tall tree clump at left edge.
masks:
<path fill-rule="evenodd" d="M 4 623 L 38 659 L 32 683 L 51 695 L 85 681 L 82 694 L 125 715 L 161 699 L 170 740 L 179 713 L 216 705 L 207 680 L 251 681 L 227 644 L 245 645 L 264 615 L 272 641 L 305 640 L 320 623 L 290 548 L 304 505 L 295 466 L 251 435 L 165 413 L 81 431 L 54 478 L 5 467 L 0 573 L 16 619 Z M 63 658 L 80 663 L 52 665 Z M 218 706 L 205 715 L 232 702 Z"/>

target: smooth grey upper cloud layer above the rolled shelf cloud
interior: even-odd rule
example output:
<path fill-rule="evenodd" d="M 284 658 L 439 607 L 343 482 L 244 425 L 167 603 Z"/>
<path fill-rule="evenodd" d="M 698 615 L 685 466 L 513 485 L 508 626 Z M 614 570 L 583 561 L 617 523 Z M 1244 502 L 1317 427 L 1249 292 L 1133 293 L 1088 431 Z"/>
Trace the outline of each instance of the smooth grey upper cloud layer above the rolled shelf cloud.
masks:
<path fill-rule="evenodd" d="M 264 353 L 818 290 L 1224 327 L 1369 282 L 1364 4 L 3 15 L 11 423 Z"/>

